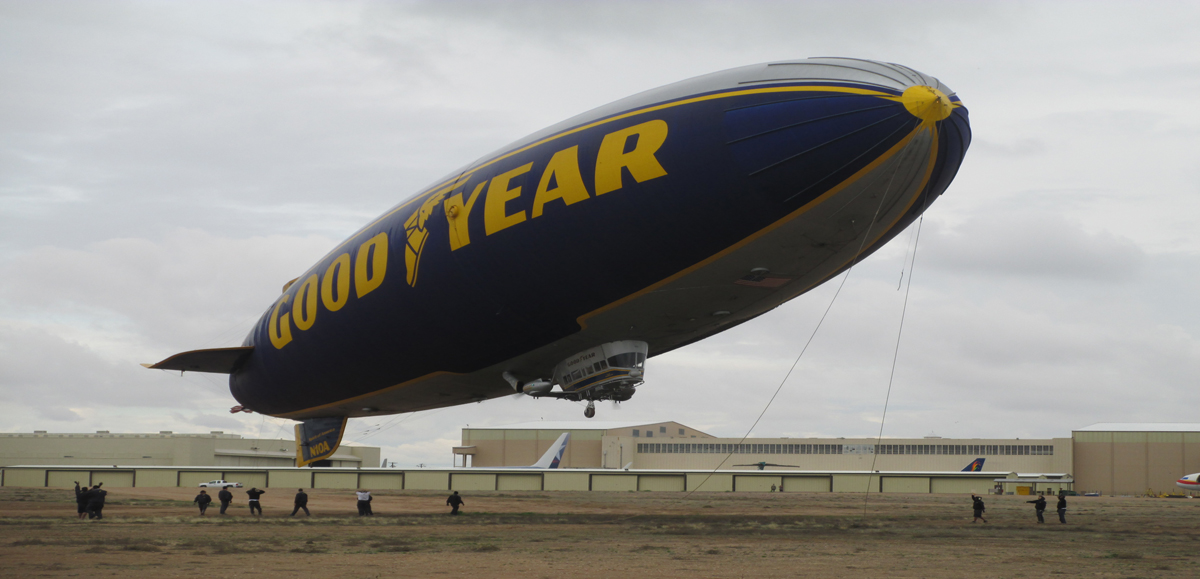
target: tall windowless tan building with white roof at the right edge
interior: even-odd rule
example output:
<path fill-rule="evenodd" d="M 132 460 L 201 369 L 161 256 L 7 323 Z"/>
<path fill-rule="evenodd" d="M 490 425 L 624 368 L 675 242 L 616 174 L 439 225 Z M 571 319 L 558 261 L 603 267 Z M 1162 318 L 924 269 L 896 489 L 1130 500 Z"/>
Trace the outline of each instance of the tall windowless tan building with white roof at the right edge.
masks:
<path fill-rule="evenodd" d="M 1178 494 L 1200 472 L 1198 423 L 1100 423 L 1072 431 L 1075 489 L 1105 495 Z"/>

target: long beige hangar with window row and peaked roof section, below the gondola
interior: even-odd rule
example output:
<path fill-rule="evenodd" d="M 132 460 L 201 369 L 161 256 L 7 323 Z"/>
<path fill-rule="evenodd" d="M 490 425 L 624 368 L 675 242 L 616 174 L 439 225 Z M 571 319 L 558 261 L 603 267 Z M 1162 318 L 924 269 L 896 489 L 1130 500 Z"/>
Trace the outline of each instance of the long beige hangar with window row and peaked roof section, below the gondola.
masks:
<path fill-rule="evenodd" d="M 566 468 L 1072 472 L 1070 438 L 716 438 L 676 422 L 534 422 L 463 429 L 463 466 L 530 465 L 563 432 Z M 469 456 L 467 459 L 466 456 Z M 728 459 L 727 459 L 728 458 Z"/>

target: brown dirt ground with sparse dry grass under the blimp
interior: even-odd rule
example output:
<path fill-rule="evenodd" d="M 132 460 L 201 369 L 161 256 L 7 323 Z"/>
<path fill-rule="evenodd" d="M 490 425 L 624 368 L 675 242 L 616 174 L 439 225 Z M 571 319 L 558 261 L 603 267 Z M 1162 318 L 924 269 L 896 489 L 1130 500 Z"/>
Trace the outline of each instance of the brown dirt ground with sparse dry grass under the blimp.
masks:
<path fill-rule="evenodd" d="M 1024 496 L 377 491 L 235 494 L 198 517 L 194 489 L 112 489 L 104 520 L 70 489 L 0 489 L 0 577 L 1200 577 L 1200 500 L 1069 497 L 1038 525 Z M 865 499 L 865 501 L 864 501 Z"/>

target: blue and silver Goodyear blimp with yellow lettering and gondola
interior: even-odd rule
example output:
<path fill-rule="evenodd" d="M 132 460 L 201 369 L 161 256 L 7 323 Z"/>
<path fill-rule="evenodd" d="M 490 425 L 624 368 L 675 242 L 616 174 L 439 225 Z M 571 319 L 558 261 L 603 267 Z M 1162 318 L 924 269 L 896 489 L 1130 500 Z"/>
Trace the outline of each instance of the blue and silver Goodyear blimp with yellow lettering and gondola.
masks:
<path fill-rule="evenodd" d="M 677 82 L 450 172 L 284 283 L 241 346 L 148 366 L 228 374 L 234 410 L 299 422 L 300 465 L 350 417 L 518 393 L 590 418 L 634 396 L 648 358 L 882 247 L 970 143 L 955 92 L 896 64 Z"/>

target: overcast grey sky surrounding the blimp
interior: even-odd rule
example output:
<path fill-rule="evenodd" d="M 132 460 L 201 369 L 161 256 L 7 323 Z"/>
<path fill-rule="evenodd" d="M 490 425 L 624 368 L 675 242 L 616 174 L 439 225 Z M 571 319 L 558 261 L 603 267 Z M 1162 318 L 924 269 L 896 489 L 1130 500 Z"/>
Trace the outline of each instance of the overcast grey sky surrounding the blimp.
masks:
<path fill-rule="evenodd" d="M 504 144 L 630 94 L 806 56 L 899 62 L 970 109 L 925 214 L 853 269 L 755 436 L 1060 437 L 1200 422 L 1198 2 L 0 1 L 0 431 L 224 430 L 221 375 L 281 285 Z M 654 358 L 598 419 L 740 436 L 838 281 Z M 436 418 L 434 418 L 436 417 Z M 582 420 L 497 399 L 354 419 L 449 465 L 470 425 Z"/>

